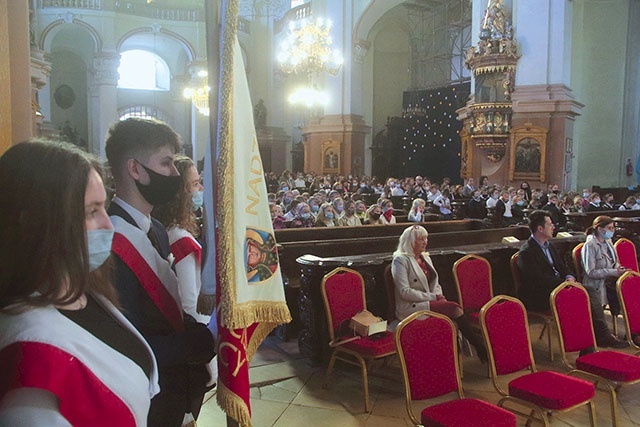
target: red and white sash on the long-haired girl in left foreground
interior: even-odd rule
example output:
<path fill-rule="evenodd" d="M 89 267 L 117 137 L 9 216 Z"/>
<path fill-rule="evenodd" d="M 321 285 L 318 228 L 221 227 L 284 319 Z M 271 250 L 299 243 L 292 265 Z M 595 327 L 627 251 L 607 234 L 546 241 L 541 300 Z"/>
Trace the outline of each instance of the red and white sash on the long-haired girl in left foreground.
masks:
<path fill-rule="evenodd" d="M 0 314 L 0 401 L 11 390 L 37 388 L 57 397 L 60 414 L 75 427 L 147 425 L 151 398 L 159 391 L 153 352 L 113 305 L 96 299 L 144 344 L 153 361 L 151 379 L 54 307 L 34 308 Z"/>

